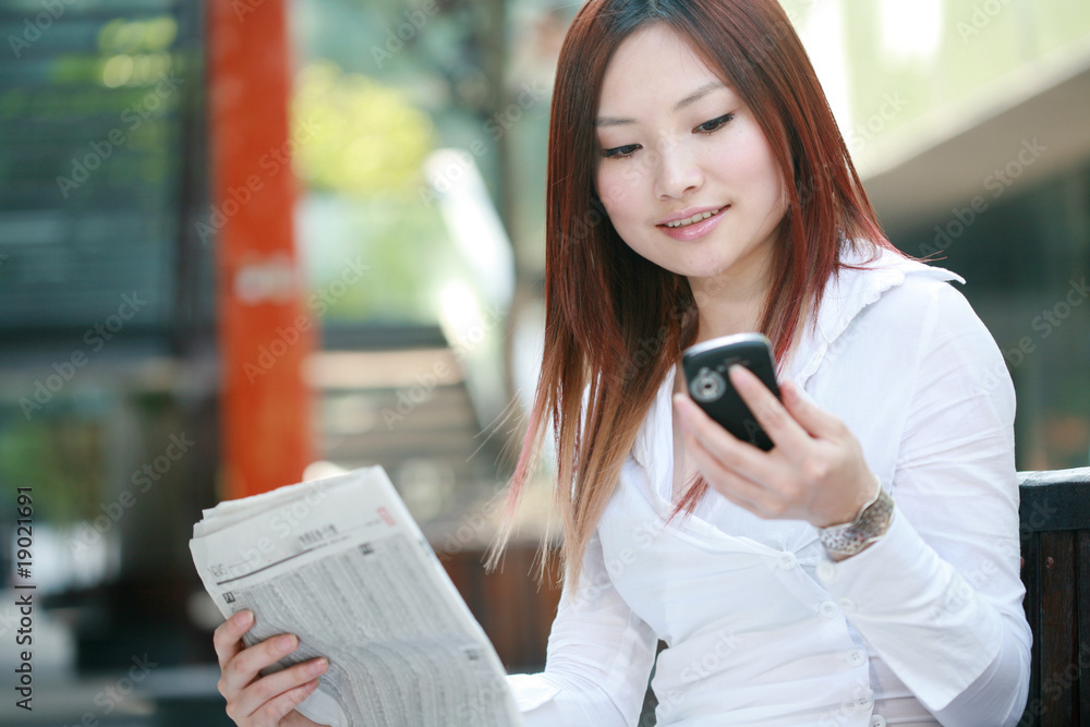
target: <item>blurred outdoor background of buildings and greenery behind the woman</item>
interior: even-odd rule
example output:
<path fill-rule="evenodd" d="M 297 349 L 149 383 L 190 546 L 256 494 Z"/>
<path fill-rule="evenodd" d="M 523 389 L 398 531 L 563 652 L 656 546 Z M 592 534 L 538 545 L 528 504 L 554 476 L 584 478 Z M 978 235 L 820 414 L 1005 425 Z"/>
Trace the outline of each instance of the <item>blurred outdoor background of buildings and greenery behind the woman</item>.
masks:
<path fill-rule="evenodd" d="M 1004 351 L 1019 469 L 1087 465 L 1090 4 L 783 4 L 889 238 L 964 276 Z M 330 464 L 384 465 L 508 668 L 540 668 L 547 472 L 502 571 L 481 557 L 578 7 L 0 1 L 2 673 L 36 586 L 34 711 L 4 681 L 0 722 L 229 724 L 192 525 Z"/>

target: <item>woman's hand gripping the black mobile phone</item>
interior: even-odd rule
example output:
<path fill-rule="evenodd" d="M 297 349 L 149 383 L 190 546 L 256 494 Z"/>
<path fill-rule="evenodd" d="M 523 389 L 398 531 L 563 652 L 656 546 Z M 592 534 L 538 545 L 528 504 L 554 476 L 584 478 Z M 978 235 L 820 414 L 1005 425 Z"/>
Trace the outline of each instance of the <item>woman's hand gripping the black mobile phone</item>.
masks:
<path fill-rule="evenodd" d="M 675 395 L 686 450 L 712 489 L 761 518 L 815 528 L 851 522 L 877 484 L 844 422 L 790 381 L 779 387 L 780 403 L 749 369 L 734 365 L 728 375 L 775 447 L 765 452 L 739 440 L 687 393 Z"/>

